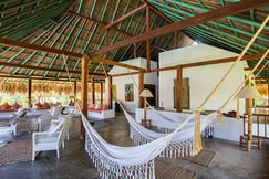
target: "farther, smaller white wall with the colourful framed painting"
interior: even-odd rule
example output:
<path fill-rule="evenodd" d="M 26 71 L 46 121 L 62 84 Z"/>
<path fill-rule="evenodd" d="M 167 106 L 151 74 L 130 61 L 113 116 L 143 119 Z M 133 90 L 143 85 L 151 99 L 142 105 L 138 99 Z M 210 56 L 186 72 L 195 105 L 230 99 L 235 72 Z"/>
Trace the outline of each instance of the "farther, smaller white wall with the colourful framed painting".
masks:
<path fill-rule="evenodd" d="M 137 57 L 128 61 L 124 61 L 123 63 L 134 65 L 134 66 L 139 66 L 143 69 L 146 69 L 146 59 Z M 151 62 L 151 69 L 157 69 L 157 63 L 156 62 Z M 133 70 L 127 70 L 125 67 L 120 67 L 120 66 L 114 66 L 110 71 L 110 75 L 115 75 L 115 74 L 123 74 L 123 73 L 130 73 L 130 72 L 135 72 Z M 112 77 L 112 83 L 116 84 L 117 86 L 117 97 L 123 102 L 124 107 L 126 108 L 127 112 L 130 113 L 135 113 L 135 108 L 138 107 L 138 88 L 136 87 L 135 84 L 138 85 L 138 74 L 132 75 L 125 75 L 125 76 L 114 76 Z M 134 84 L 134 102 L 125 102 L 125 84 Z M 144 83 L 145 84 L 155 84 L 156 85 L 156 94 L 158 94 L 158 78 L 157 78 L 157 73 L 145 73 L 144 75 Z M 106 81 L 106 88 L 108 87 L 108 83 Z M 105 98 L 108 98 L 107 91 L 105 91 Z"/>

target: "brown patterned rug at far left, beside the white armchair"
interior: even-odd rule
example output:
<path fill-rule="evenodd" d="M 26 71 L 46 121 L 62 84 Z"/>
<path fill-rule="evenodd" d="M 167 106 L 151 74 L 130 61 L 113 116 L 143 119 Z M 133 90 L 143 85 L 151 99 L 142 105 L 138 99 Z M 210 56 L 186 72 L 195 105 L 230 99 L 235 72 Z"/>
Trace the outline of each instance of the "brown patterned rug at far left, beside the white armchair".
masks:
<path fill-rule="evenodd" d="M 32 160 L 31 140 L 11 141 L 0 148 L 0 165 L 31 161 L 31 160 Z"/>

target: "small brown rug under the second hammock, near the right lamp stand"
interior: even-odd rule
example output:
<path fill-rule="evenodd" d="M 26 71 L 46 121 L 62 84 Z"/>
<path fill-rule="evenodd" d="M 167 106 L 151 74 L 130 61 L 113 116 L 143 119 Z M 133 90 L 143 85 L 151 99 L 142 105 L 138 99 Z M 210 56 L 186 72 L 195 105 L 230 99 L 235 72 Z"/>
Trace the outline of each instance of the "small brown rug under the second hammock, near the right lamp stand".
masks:
<path fill-rule="evenodd" d="M 215 154 L 216 154 L 215 151 L 203 149 L 198 155 L 196 155 L 194 157 L 183 158 L 183 159 L 208 167 L 210 165 Z"/>

